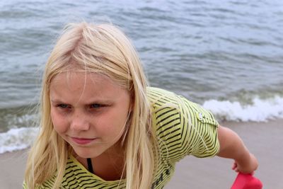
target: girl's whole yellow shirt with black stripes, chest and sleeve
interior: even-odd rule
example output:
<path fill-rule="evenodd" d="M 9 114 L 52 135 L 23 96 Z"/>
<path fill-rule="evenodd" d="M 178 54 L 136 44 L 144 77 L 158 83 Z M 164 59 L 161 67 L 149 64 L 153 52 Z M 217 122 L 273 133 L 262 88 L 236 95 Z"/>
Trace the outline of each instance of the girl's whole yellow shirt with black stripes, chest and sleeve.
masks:
<path fill-rule="evenodd" d="M 187 155 L 214 156 L 219 151 L 216 127 L 212 113 L 183 96 L 161 88 L 147 88 L 151 102 L 152 126 L 158 139 L 159 159 L 152 189 L 163 188 L 175 171 L 175 163 Z M 55 176 L 40 185 L 52 188 Z M 23 188 L 26 188 L 25 184 Z M 67 161 L 62 188 L 125 188 L 125 180 L 104 181 L 90 173 L 74 156 Z"/>

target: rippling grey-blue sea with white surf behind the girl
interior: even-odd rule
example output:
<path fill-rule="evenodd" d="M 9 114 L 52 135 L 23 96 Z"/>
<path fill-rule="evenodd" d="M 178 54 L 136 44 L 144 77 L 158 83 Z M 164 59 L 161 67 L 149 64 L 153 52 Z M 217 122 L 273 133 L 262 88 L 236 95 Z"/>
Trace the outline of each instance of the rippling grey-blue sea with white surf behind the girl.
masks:
<path fill-rule="evenodd" d="M 111 21 L 151 86 L 219 120 L 283 118 L 283 1 L 0 1 L 0 154 L 28 147 L 42 68 L 65 23 Z"/>

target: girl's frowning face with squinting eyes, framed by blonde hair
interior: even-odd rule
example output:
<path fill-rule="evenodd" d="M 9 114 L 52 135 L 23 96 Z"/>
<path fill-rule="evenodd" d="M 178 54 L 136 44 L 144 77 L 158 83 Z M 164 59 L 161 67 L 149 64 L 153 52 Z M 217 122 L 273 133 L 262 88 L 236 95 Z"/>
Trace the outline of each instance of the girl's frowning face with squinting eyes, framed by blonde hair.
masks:
<path fill-rule="evenodd" d="M 117 150 L 131 107 L 129 91 L 107 76 L 69 72 L 50 84 L 54 130 L 77 155 L 94 158 Z"/>

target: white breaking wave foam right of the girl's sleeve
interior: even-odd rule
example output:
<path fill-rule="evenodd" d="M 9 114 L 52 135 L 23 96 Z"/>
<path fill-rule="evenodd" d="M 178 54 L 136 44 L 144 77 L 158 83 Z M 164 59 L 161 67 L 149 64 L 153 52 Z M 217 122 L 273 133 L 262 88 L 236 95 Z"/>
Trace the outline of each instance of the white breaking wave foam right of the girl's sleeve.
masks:
<path fill-rule="evenodd" d="M 204 102 L 203 107 L 211 110 L 221 120 L 266 122 L 267 120 L 283 118 L 283 98 L 279 96 L 265 100 L 254 98 L 251 105 L 210 100 Z"/>

